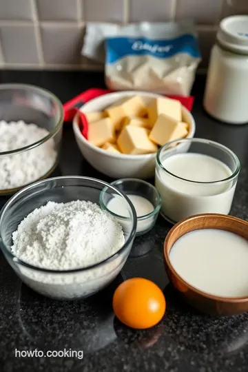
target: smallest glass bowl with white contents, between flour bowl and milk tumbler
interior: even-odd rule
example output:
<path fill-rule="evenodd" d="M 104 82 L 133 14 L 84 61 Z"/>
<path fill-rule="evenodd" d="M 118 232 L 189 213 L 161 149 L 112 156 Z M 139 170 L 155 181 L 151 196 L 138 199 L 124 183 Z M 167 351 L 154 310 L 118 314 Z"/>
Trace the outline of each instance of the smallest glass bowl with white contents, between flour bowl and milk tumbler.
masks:
<path fill-rule="evenodd" d="M 150 183 L 138 178 L 123 178 L 111 183 L 120 189 L 132 202 L 137 215 L 136 236 L 146 234 L 156 223 L 158 213 L 161 209 L 161 196 L 156 188 Z M 125 231 L 129 216 L 121 198 L 118 195 L 105 194 L 100 197 L 101 207 L 109 211 L 118 219 L 118 223 Z"/>

